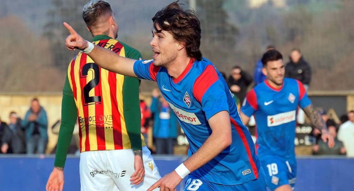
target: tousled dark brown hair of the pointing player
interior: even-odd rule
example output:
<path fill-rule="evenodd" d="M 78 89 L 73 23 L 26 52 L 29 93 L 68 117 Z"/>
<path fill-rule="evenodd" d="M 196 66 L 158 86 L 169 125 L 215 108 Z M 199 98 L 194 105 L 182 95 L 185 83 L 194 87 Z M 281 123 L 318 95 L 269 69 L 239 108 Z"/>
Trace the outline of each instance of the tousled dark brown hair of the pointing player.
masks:
<path fill-rule="evenodd" d="M 152 20 L 157 32 L 161 31 L 157 30 L 157 26 L 162 30 L 170 31 L 175 40 L 185 43 L 189 57 L 201 60 L 200 22 L 193 10 L 183 10 L 178 1 L 175 1 L 158 11 Z"/>

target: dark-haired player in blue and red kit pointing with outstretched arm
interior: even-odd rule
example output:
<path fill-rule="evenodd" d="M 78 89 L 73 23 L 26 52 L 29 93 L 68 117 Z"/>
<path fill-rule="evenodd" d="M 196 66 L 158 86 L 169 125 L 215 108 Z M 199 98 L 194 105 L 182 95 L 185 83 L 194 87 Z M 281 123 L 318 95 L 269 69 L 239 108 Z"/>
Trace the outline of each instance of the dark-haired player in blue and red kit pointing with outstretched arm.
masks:
<path fill-rule="evenodd" d="M 148 189 L 173 191 L 266 190 L 250 133 L 222 75 L 201 56 L 201 29 L 191 10 L 173 2 L 153 17 L 152 60 L 120 57 L 82 39 L 67 23 L 69 50 L 78 48 L 104 69 L 156 81 L 190 144 L 189 158 Z"/>

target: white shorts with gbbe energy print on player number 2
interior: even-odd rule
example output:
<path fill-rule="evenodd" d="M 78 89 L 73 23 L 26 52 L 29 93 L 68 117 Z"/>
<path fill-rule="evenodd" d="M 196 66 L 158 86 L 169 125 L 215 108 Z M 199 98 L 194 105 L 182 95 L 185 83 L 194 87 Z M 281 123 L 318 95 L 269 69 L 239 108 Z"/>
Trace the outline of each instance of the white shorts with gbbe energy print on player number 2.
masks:
<path fill-rule="evenodd" d="M 143 161 L 144 181 L 136 186 L 130 183 L 135 172 L 132 149 L 81 152 L 81 191 L 146 191 L 161 176 L 147 146 L 143 146 Z"/>

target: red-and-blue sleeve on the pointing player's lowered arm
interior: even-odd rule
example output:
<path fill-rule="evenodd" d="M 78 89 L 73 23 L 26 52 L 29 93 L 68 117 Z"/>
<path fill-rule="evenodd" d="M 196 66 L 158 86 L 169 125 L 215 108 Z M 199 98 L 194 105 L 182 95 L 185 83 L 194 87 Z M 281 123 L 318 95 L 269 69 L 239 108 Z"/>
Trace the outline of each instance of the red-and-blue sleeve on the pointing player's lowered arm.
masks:
<path fill-rule="evenodd" d="M 225 87 L 212 65 L 208 65 L 195 80 L 193 95 L 201 104 L 207 120 L 220 111 L 229 112 Z"/>

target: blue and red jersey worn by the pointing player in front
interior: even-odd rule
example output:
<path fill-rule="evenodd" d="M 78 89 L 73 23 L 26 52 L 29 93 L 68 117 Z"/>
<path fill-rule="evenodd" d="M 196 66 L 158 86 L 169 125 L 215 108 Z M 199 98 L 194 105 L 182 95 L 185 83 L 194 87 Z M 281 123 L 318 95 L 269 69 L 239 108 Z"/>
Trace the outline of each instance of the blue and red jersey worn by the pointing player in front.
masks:
<path fill-rule="evenodd" d="M 258 178 L 260 164 L 248 129 L 243 125 L 235 100 L 215 66 L 207 59 L 191 59 L 176 79 L 154 60 L 137 60 L 134 73 L 141 79 L 156 81 L 162 96 L 177 115 L 189 142 L 188 155 L 194 154 L 212 133 L 208 120 L 220 111 L 228 111 L 232 126 L 232 144 L 193 175 L 223 185 L 243 184 Z"/>

